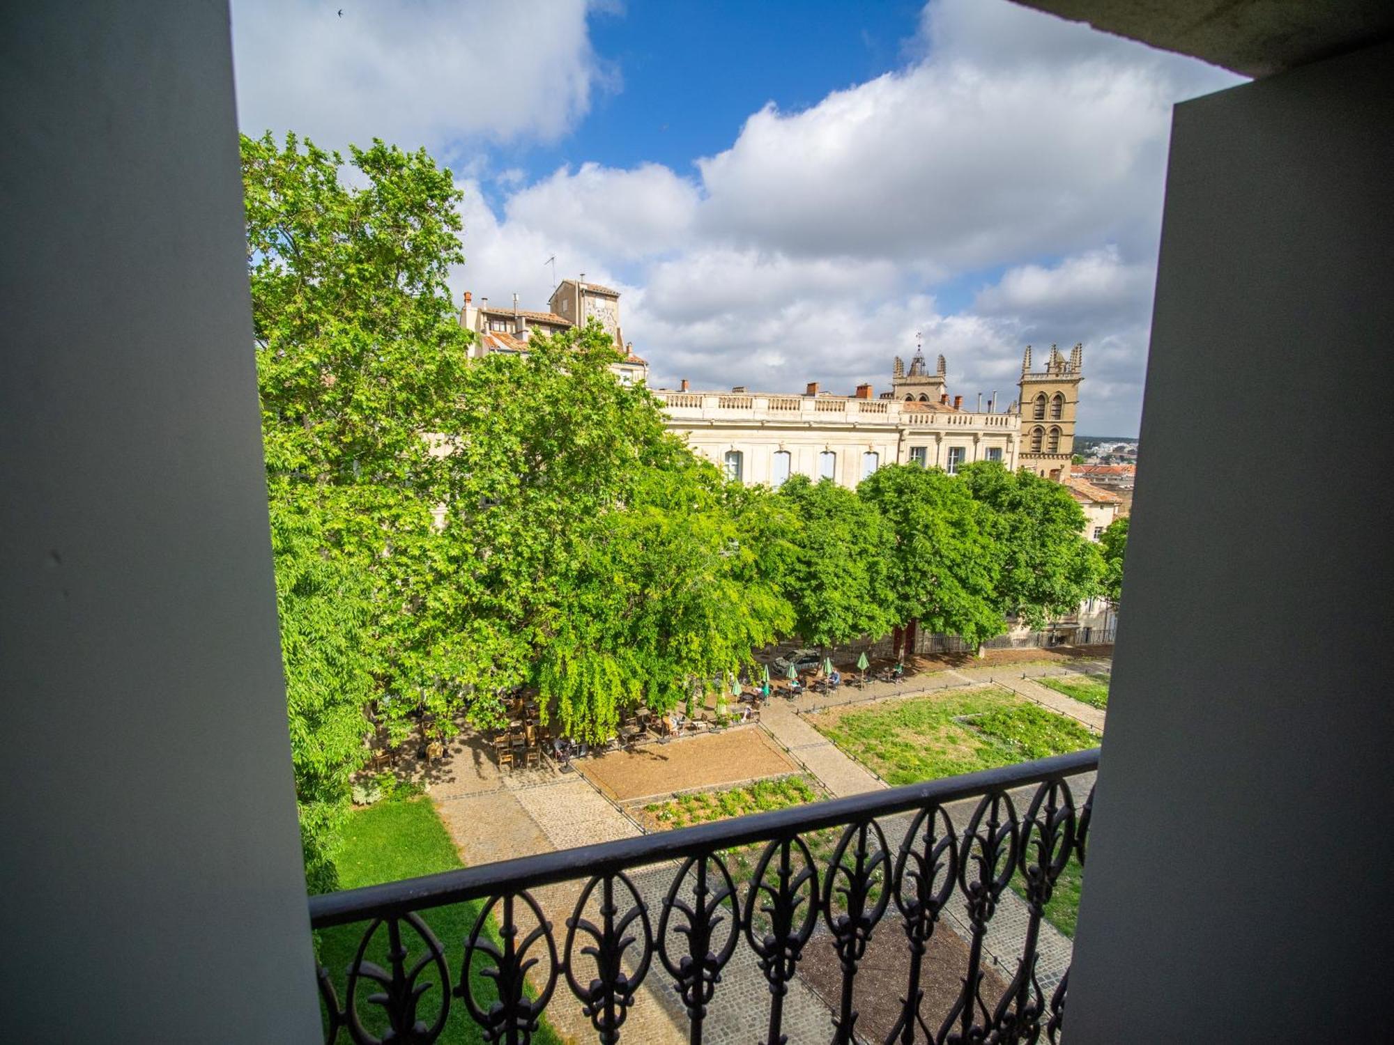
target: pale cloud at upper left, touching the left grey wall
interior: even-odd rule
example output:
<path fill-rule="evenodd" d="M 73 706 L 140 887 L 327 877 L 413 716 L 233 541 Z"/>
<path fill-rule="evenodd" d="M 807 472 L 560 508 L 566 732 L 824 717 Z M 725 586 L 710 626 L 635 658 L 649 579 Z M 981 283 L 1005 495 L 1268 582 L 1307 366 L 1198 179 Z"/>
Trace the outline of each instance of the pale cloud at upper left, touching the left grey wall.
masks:
<path fill-rule="evenodd" d="M 238 124 L 436 155 L 470 139 L 553 139 L 613 75 L 585 14 L 585 0 L 233 0 Z"/>

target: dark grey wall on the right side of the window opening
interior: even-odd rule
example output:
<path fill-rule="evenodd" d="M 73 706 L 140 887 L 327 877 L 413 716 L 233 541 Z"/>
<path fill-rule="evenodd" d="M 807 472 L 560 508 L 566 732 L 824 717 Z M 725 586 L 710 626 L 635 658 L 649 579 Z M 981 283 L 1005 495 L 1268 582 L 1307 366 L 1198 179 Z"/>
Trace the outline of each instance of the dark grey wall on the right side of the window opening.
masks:
<path fill-rule="evenodd" d="M 1387 1024 L 1394 46 L 1178 106 L 1071 1045 Z"/>

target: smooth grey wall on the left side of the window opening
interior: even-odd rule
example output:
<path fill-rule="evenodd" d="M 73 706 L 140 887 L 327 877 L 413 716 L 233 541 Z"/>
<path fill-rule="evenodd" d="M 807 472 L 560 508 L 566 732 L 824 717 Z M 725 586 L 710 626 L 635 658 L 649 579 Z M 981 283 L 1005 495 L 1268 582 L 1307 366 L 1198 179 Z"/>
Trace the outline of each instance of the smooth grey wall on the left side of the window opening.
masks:
<path fill-rule="evenodd" d="M 223 3 L 0 7 L 6 1041 L 318 1037 Z"/>

